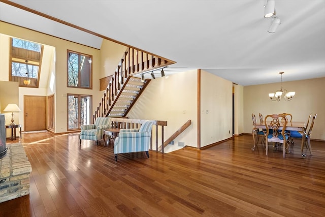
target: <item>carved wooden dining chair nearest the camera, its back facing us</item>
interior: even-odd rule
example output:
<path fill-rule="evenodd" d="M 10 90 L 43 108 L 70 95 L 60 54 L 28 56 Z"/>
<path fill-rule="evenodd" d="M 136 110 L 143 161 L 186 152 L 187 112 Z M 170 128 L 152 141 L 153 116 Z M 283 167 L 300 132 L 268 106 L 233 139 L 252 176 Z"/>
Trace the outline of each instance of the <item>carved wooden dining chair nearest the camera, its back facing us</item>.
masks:
<path fill-rule="evenodd" d="M 270 120 L 270 123 L 268 125 L 268 120 Z M 269 114 L 265 117 L 264 120 L 265 123 L 265 153 L 268 155 L 268 143 L 273 142 L 275 147 L 276 143 L 280 143 L 283 145 L 283 158 L 285 158 L 285 152 L 286 150 L 286 142 L 288 139 L 288 136 L 285 134 L 285 127 L 287 123 L 287 119 L 283 114 Z M 282 131 L 279 131 L 280 126 L 282 125 Z M 273 132 L 270 132 L 272 130 Z"/>

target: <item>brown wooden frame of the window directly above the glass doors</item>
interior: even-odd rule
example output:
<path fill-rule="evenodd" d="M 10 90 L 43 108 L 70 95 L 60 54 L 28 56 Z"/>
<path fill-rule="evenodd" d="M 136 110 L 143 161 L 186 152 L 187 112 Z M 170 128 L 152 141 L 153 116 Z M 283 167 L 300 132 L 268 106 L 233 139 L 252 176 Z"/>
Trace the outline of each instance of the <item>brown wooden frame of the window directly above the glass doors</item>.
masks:
<path fill-rule="evenodd" d="M 88 75 L 88 80 L 89 80 L 89 87 L 84 87 L 81 86 L 81 70 L 80 70 L 80 66 L 78 65 L 78 85 L 77 86 L 70 86 L 69 85 L 69 53 L 73 53 L 73 54 L 77 54 L 78 55 L 78 63 L 80 62 L 80 55 L 83 56 L 87 56 L 90 57 L 91 63 L 90 63 L 90 67 L 89 67 L 89 75 Z M 92 89 L 92 55 L 89 54 L 85 54 L 85 53 L 81 53 L 81 52 L 77 52 L 77 51 L 73 51 L 73 50 L 67 50 L 67 87 L 71 87 L 71 88 L 83 88 L 83 89 Z"/>

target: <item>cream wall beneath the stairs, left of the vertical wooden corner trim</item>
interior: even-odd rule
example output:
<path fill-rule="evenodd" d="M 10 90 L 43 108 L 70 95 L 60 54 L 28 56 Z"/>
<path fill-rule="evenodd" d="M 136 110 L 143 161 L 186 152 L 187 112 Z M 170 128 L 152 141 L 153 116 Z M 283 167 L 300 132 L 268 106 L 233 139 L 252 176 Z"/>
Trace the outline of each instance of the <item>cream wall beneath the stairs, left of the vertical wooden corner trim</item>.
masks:
<path fill-rule="evenodd" d="M 165 149 L 166 152 L 182 148 L 178 142 L 197 147 L 197 76 L 194 70 L 151 80 L 145 94 L 127 115 L 129 118 L 167 120 L 165 140 L 190 119 L 191 125 L 174 140 L 173 146 Z M 160 146 L 161 139 L 158 141 Z"/>

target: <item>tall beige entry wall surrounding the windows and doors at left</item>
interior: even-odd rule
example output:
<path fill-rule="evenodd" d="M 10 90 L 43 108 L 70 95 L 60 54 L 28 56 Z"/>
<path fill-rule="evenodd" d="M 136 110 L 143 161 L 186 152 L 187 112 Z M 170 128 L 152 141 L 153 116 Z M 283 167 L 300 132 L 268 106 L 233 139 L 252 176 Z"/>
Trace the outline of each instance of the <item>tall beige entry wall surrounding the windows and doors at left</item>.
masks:
<path fill-rule="evenodd" d="M 50 59 L 54 60 L 54 65 L 52 62 L 47 64 L 46 67 L 44 66 L 44 68 L 46 68 L 48 72 L 46 77 L 40 78 L 40 88 L 19 87 L 19 107 L 21 109 L 23 109 L 22 106 L 24 95 L 48 96 L 53 94 L 53 92 L 55 91 L 55 132 L 61 133 L 67 131 L 67 94 L 92 95 L 93 108 L 96 108 L 98 106 L 98 102 L 100 102 L 100 99 L 102 98 L 102 92 L 99 91 L 100 50 L 62 40 L 59 38 L 51 37 L 45 34 L 34 32 L 32 30 L 21 28 L 19 26 L 11 25 L 4 22 L 0 22 L 0 29 L 1 34 L 41 43 L 44 45 L 49 45 L 55 48 L 54 51 L 52 50 L 48 54 L 55 54 L 55 58 L 50 57 Z M 3 42 L 0 45 L 3 45 Z M 92 55 L 92 90 L 67 87 L 67 49 Z M 3 52 L 1 53 L 2 55 L 9 54 L 3 54 Z M 7 81 L 9 79 L 8 58 L 9 57 L 4 57 L 4 59 L 6 59 L 7 61 L 7 64 L 0 65 L 0 79 Z M 55 77 L 55 80 L 51 81 L 50 79 L 53 79 L 53 77 Z M 53 90 L 49 86 L 50 82 L 53 82 Z M 23 118 L 21 118 L 21 121 L 22 120 Z"/>

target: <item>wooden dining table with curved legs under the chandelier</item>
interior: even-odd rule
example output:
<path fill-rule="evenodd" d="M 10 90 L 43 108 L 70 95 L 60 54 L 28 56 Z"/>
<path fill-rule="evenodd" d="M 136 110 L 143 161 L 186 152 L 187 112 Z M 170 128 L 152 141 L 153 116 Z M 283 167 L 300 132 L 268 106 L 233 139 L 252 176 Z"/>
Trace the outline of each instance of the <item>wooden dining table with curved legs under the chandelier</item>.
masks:
<path fill-rule="evenodd" d="M 267 121 L 268 128 L 271 128 L 270 125 L 271 121 Z M 254 141 L 254 146 L 252 147 L 252 150 L 255 149 L 256 146 L 256 133 L 254 132 L 254 129 L 265 129 L 266 125 L 264 122 L 259 122 L 256 124 L 253 124 L 253 131 L 252 131 L 252 136 L 253 136 L 253 141 Z M 279 130 L 283 129 L 282 123 L 280 123 Z M 306 124 L 304 121 L 290 121 L 286 123 L 285 126 L 285 131 L 299 131 L 302 133 L 302 141 L 301 141 L 301 155 L 303 158 L 306 158 L 306 154 L 304 154 L 304 144 L 305 144 L 305 139 L 306 139 Z"/>

